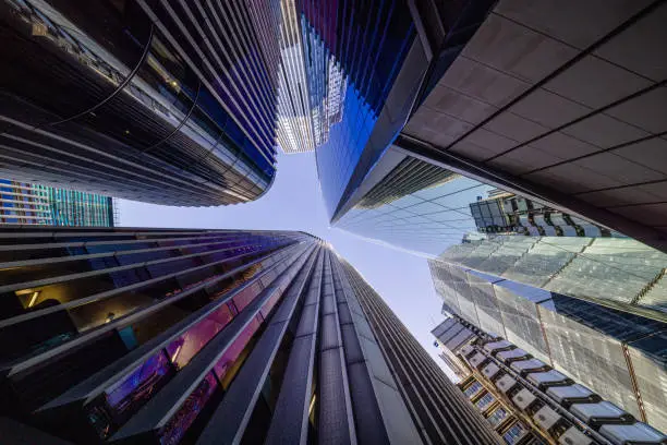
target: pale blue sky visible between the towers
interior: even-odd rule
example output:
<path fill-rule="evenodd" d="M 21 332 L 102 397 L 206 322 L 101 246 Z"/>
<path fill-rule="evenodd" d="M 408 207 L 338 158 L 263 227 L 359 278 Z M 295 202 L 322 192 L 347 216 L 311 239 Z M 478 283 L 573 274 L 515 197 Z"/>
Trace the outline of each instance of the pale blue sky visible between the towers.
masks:
<path fill-rule="evenodd" d="M 259 200 L 220 207 L 170 207 L 119 200 L 125 227 L 303 230 L 333 245 L 385 299 L 448 375 L 430 335 L 444 316 L 426 260 L 329 227 L 315 154 L 278 155 L 278 173 Z"/>

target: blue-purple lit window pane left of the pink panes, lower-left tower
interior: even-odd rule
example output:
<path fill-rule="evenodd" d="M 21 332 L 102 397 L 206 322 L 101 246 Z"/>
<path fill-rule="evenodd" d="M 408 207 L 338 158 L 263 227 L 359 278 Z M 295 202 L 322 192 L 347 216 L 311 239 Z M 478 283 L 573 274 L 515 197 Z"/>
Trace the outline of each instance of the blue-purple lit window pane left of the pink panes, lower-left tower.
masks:
<path fill-rule="evenodd" d="M 153 394 L 157 384 L 169 373 L 169 360 L 160 351 L 146 360 L 132 374 L 118 382 L 105 392 L 107 402 L 114 411 L 114 417 L 122 417 L 132 409 L 138 408 Z"/>

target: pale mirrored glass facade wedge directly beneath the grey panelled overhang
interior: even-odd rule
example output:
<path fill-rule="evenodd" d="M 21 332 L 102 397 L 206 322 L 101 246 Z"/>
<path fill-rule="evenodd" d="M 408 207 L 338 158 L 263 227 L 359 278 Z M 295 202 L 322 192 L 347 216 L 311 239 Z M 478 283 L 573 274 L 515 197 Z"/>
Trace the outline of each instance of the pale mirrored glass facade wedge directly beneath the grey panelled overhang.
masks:
<path fill-rule="evenodd" d="M 384 171 L 386 164 L 388 172 L 376 181 L 369 173 L 374 185 L 359 193 L 336 227 L 428 255 L 486 236 L 621 237 L 393 148 L 387 152 L 375 168 Z"/>

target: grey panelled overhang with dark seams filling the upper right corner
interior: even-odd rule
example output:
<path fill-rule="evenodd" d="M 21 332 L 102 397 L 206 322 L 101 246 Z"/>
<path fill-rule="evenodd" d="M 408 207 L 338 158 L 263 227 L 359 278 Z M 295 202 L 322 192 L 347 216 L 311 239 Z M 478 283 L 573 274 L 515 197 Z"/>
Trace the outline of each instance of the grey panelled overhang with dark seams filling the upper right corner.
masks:
<path fill-rule="evenodd" d="M 395 145 L 667 250 L 666 19 L 659 1 L 498 1 Z"/>

